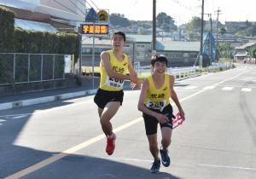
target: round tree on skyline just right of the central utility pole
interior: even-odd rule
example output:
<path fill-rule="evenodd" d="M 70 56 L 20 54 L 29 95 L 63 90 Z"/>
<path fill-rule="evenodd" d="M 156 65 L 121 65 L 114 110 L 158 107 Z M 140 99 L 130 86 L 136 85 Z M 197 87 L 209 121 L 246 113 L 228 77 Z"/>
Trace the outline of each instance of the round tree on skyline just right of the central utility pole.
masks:
<path fill-rule="evenodd" d="M 176 31 L 177 26 L 174 23 L 174 19 L 166 13 L 161 12 L 156 16 L 156 26 L 160 26 L 165 32 Z"/>

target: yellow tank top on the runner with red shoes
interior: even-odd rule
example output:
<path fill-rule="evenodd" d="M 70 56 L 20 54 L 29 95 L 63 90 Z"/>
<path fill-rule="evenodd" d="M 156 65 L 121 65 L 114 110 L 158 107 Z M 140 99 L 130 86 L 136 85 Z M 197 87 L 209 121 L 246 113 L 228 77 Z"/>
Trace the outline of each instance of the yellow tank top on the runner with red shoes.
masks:
<path fill-rule="evenodd" d="M 124 54 L 125 58 L 123 61 L 118 61 L 115 55 L 113 55 L 113 50 L 108 50 L 109 62 L 113 67 L 113 72 L 118 72 L 120 74 L 126 74 L 128 70 L 128 57 Z M 123 85 L 125 83 L 124 79 L 109 78 L 105 68 L 100 64 L 101 72 L 101 82 L 100 89 L 108 91 L 119 91 L 123 90 Z"/>

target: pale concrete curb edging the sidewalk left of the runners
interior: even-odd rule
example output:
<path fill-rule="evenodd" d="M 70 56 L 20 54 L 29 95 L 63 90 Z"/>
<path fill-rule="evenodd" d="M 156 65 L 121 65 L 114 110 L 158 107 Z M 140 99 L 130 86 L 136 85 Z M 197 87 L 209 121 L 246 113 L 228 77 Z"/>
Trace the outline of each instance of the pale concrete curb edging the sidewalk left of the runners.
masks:
<path fill-rule="evenodd" d="M 38 97 L 29 100 L 22 100 L 22 101 L 11 101 L 5 102 L 0 104 L 0 111 L 5 109 L 12 109 L 12 108 L 19 108 L 19 107 L 26 107 L 35 104 L 45 103 L 49 101 L 60 101 L 65 100 L 68 98 L 85 96 L 85 95 L 94 95 L 96 94 L 96 90 L 82 90 L 74 93 L 65 93 L 61 95 L 50 95 L 45 97 Z"/>

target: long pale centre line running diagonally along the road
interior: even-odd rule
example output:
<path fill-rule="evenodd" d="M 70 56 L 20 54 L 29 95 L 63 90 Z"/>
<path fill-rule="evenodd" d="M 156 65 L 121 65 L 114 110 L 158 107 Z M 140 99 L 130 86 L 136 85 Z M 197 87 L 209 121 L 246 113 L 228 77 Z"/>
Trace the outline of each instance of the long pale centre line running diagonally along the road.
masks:
<path fill-rule="evenodd" d="M 218 84 L 222 84 L 228 80 L 231 80 L 233 78 L 237 78 L 239 77 L 241 74 L 243 74 L 245 72 L 241 72 L 240 74 L 237 74 L 235 77 L 232 77 L 232 78 L 228 78 L 228 79 L 224 79 L 223 81 L 220 81 L 216 84 L 213 84 L 214 86 L 215 85 L 218 85 Z M 195 96 L 195 95 L 199 95 L 201 94 L 202 92 L 204 92 L 205 90 L 200 90 L 200 91 L 197 91 L 196 93 L 192 94 L 192 95 L 189 95 L 187 97 L 184 97 L 183 99 L 181 99 L 180 101 L 185 101 L 185 100 L 188 100 L 190 99 L 191 97 Z M 56 107 L 56 108 L 59 108 L 59 107 Z M 49 110 L 46 110 L 46 112 L 49 111 Z M 133 124 L 137 124 L 138 122 L 141 122 L 143 121 L 143 118 L 136 118 L 134 120 L 132 120 L 131 122 L 129 123 L 126 123 L 126 124 L 123 124 L 121 126 L 119 126 L 118 128 L 114 129 L 113 131 L 114 132 L 119 132 L 120 130 L 124 130 L 125 128 L 128 128 L 130 127 L 131 125 Z M 30 173 L 32 173 L 33 171 L 36 171 L 36 170 L 39 170 L 41 168 L 43 168 L 44 166 L 46 165 L 49 165 L 49 164 L 52 164 L 54 163 L 55 161 L 59 160 L 59 159 L 62 159 L 64 157 L 66 157 L 67 155 L 69 154 L 72 154 L 72 153 L 75 153 L 76 151 L 79 151 L 80 149 L 84 148 L 84 147 L 88 147 L 90 146 L 91 144 L 93 143 L 96 143 L 96 141 L 100 141 L 102 139 L 104 139 L 106 136 L 104 134 L 102 135 L 99 135 L 99 136 L 95 136 L 93 138 L 91 138 L 90 140 L 88 141 L 84 141 L 82 143 L 80 143 L 79 145 L 77 146 L 74 146 L 74 147 L 71 147 L 71 148 L 68 148 L 66 151 L 63 151 L 59 154 L 56 154 L 48 159 L 44 159 L 43 161 L 39 162 L 38 164 L 35 164 L 35 165 L 32 165 L 24 170 L 20 170 L 18 172 L 16 172 L 15 174 L 11 175 L 11 176 L 7 176 L 5 179 L 16 179 L 16 178 L 20 178 L 22 176 L 26 176 Z"/>

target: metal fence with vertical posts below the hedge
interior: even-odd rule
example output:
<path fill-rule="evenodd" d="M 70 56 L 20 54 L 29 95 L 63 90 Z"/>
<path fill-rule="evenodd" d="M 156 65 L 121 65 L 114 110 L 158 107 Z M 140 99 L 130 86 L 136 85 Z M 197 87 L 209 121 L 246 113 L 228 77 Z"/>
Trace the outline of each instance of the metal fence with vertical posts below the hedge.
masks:
<path fill-rule="evenodd" d="M 0 53 L 0 85 L 65 78 L 65 55 Z"/>

